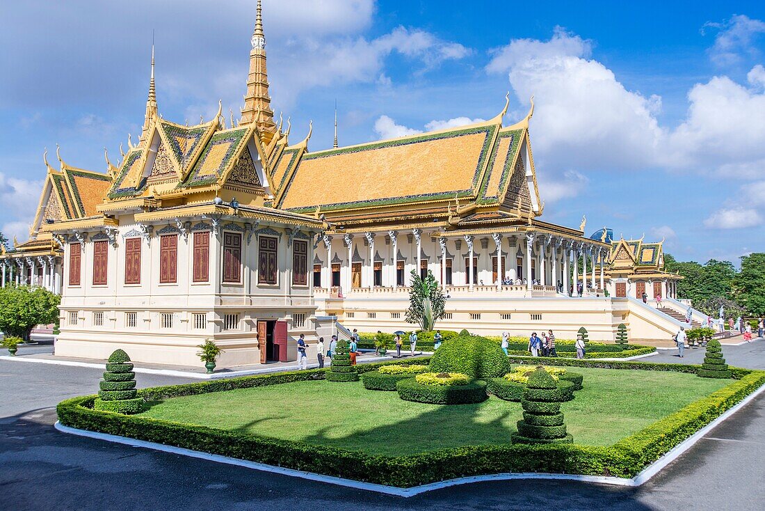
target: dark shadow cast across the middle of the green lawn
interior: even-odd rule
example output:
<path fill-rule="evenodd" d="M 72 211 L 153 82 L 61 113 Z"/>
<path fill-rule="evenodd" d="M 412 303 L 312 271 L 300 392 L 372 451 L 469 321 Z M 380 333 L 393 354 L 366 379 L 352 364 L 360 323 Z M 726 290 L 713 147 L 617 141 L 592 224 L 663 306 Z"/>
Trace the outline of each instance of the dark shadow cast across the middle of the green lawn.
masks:
<path fill-rule="evenodd" d="M 480 420 L 480 410 L 486 405 L 422 405 L 433 408 L 415 418 L 356 431 L 354 424 L 329 424 L 315 434 L 304 437 L 309 444 L 321 444 L 349 450 L 364 450 L 373 454 L 396 456 L 466 445 L 509 444 L 516 431 L 520 407 L 507 402 L 506 411 L 490 421 Z M 517 409 L 516 409 L 517 407 Z"/>

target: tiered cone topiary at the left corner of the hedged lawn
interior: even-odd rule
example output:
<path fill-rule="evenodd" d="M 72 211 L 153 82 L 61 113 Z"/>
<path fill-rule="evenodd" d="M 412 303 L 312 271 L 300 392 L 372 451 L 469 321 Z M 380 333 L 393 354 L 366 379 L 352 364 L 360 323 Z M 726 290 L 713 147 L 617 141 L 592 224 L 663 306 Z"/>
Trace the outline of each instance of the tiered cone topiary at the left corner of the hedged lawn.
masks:
<path fill-rule="evenodd" d="M 119 414 L 137 414 L 143 410 L 144 400 L 135 390 L 135 372 L 130 357 L 122 349 L 109 356 L 103 382 L 99 382 L 98 398 L 93 408 Z"/>

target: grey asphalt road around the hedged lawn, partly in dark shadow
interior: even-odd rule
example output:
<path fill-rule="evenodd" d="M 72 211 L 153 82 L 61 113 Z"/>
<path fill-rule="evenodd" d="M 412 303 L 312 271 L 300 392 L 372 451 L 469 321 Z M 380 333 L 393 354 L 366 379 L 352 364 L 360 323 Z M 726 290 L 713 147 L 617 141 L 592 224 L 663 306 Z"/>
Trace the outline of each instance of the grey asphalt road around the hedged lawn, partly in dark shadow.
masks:
<path fill-rule="evenodd" d="M 765 342 L 726 346 L 724 351 L 731 363 L 765 366 Z M 697 356 L 688 355 L 685 362 Z M 678 360 L 670 354 L 659 357 Z M 55 431 L 52 407 L 63 398 L 96 390 L 98 378 L 96 369 L 0 361 L 0 509 L 745 511 L 762 509 L 765 501 L 762 395 L 638 489 L 513 481 L 458 486 L 403 500 Z M 188 381 L 137 378 L 141 387 Z"/>

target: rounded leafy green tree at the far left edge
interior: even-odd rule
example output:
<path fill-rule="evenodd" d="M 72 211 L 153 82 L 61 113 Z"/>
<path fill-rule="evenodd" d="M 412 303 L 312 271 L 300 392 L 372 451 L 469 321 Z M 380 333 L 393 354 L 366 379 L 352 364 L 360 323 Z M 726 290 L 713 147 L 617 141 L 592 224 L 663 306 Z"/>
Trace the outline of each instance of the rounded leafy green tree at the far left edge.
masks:
<path fill-rule="evenodd" d="M 42 287 L 8 286 L 0 289 L 0 330 L 29 340 L 36 325 L 58 323 L 61 297 Z"/>

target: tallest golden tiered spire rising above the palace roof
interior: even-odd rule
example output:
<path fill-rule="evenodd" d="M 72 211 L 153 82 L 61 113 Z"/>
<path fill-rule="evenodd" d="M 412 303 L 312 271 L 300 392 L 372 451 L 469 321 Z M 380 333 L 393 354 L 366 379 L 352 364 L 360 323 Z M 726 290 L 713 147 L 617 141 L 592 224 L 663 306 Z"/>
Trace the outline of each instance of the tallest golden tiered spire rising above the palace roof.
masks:
<path fill-rule="evenodd" d="M 263 33 L 262 1 L 258 0 L 252 50 L 249 52 L 249 76 L 239 126 L 256 123 L 263 142 L 268 144 L 276 133 L 274 111 L 271 110 L 269 76 L 265 67 L 265 34 Z"/>

